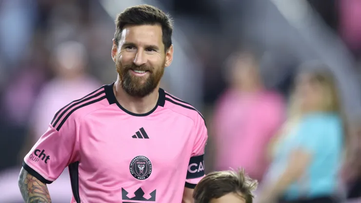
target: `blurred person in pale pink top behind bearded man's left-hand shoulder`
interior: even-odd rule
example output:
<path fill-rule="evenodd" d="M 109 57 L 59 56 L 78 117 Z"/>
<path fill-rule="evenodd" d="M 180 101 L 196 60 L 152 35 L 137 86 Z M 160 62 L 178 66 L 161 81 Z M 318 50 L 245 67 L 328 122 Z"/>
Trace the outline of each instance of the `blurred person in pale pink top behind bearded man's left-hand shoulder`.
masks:
<path fill-rule="evenodd" d="M 83 44 L 77 41 L 60 43 L 53 53 L 55 78 L 44 85 L 35 103 L 30 118 L 28 142 L 20 158 L 31 149 L 49 126 L 54 113 L 66 104 L 92 92 L 100 82 L 86 73 L 87 52 Z M 72 196 L 67 168 L 57 182 L 49 185 L 54 202 L 69 202 Z"/>

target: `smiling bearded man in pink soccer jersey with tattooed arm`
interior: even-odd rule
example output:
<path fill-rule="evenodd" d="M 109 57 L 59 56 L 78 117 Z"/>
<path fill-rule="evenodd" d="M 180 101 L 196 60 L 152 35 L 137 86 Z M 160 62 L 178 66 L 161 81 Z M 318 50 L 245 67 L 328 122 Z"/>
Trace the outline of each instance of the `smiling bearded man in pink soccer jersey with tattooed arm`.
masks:
<path fill-rule="evenodd" d="M 153 6 L 117 16 L 118 79 L 55 114 L 22 164 L 26 202 L 51 202 L 46 184 L 67 166 L 72 203 L 193 202 L 208 136 L 201 114 L 159 87 L 173 59 L 172 31 Z"/>

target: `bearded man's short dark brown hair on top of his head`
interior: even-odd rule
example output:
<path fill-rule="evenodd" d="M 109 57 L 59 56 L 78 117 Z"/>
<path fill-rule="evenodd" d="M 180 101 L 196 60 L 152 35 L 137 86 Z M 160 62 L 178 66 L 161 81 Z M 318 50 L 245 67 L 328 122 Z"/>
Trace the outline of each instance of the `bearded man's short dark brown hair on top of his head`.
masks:
<path fill-rule="evenodd" d="M 118 45 L 121 32 L 125 25 L 155 25 L 160 24 L 162 30 L 162 41 L 165 50 L 172 45 L 173 23 L 169 14 L 165 14 L 159 8 L 151 5 L 141 4 L 126 8 L 117 15 L 115 20 L 116 30 L 114 39 Z"/>

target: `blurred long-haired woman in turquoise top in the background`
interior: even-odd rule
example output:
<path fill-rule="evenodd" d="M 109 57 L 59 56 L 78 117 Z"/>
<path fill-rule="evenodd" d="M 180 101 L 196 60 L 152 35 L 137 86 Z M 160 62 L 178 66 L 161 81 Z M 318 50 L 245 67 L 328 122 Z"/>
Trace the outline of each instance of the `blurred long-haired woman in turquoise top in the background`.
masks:
<path fill-rule="evenodd" d="M 308 71 L 298 75 L 290 115 L 270 150 L 260 203 L 338 202 L 347 135 L 340 98 L 324 65 L 307 63 L 303 69 Z"/>

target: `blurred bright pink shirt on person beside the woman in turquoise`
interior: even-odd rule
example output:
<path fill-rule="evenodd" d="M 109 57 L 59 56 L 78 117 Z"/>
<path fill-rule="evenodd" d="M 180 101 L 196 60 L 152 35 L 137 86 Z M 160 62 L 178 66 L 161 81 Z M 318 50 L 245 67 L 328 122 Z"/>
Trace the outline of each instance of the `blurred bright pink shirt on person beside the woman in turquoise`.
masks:
<path fill-rule="evenodd" d="M 216 169 L 243 167 L 260 180 L 266 167 L 266 147 L 284 119 L 280 95 L 270 92 L 242 94 L 227 91 L 217 106 Z"/>

